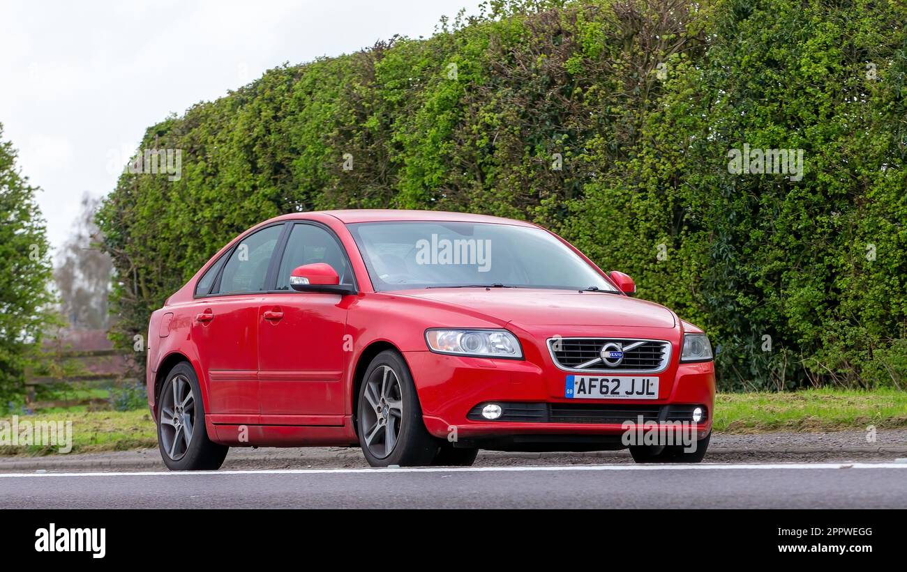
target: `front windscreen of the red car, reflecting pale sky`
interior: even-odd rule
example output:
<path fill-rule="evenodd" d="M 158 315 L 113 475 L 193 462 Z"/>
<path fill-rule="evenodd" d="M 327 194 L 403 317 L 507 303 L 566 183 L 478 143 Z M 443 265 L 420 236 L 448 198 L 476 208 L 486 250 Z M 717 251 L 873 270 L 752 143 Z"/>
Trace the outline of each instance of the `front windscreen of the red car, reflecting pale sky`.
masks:
<path fill-rule="evenodd" d="M 376 291 L 512 287 L 616 291 L 553 235 L 515 224 L 349 224 Z"/>

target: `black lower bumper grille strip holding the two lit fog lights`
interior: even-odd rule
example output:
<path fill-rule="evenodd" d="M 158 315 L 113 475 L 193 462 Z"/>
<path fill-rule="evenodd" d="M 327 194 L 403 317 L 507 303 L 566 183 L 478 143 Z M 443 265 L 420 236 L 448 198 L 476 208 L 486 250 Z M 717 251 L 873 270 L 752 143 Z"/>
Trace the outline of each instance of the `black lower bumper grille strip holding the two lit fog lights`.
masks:
<path fill-rule="evenodd" d="M 693 409 L 702 405 L 621 405 L 621 404 L 571 404 L 571 403 L 502 403 L 483 402 L 475 405 L 466 415 L 473 421 L 488 421 L 482 408 L 488 403 L 501 405 L 502 414 L 497 421 L 523 423 L 581 423 L 623 424 L 624 422 L 693 422 Z M 705 407 L 703 407 L 705 410 Z M 705 421 L 705 420 L 703 420 Z M 700 422 L 701 423 L 701 422 Z"/>

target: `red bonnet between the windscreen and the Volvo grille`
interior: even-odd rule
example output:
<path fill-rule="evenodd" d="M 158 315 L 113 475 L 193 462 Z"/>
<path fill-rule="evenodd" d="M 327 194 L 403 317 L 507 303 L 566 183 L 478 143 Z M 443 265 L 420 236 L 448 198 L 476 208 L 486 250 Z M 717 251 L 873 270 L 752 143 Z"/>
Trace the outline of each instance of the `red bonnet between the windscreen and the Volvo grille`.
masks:
<path fill-rule="evenodd" d="M 479 311 L 518 326 L 675 326 L 673 312 L 664 306 L 602 292 L 433 288 L 395 293 Z"/>

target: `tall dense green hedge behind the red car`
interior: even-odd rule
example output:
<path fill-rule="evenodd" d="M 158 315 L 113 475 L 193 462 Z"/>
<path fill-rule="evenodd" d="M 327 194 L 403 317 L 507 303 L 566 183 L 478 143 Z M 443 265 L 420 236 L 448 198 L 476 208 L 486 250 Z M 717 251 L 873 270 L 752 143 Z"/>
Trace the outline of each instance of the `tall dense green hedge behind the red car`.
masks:
<path fill-rule="evenodd" d="M 904 387 L 905 77 L 893 0 L 491 2 L 271 70 L 148 129 L 142 148 L 182 150 L 179 181 L 108 196 L 117 333 L 132 345 L 269 216 L 444 209 L 543 224 L 628 272 L 707 329 L 726 389 Z M 729 172 L 745 144 L 802 149 L 802 180 Z"/>

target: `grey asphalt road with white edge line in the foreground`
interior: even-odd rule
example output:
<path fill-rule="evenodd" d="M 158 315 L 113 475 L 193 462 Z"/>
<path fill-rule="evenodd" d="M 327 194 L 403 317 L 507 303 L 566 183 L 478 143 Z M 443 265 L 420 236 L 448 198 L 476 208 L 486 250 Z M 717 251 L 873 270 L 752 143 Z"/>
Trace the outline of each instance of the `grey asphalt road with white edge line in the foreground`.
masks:
<path fill-rule="evenodd" d="M 907 508 L 907 462 L 0 474 L 0 508 Z"/>

